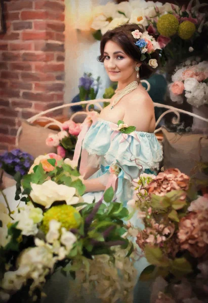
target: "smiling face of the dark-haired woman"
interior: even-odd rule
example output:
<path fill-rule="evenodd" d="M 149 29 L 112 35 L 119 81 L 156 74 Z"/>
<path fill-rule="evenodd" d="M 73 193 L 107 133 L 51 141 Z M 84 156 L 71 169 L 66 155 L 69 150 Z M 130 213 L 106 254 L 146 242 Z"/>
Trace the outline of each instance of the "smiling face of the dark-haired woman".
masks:
<path fill-rule="evenodd" d="M 109 40 L 104 47 L 104 67 L 111 81 L 128 81 L 136 76 L 136 62 L 127 56 L 123 49 Z"/>

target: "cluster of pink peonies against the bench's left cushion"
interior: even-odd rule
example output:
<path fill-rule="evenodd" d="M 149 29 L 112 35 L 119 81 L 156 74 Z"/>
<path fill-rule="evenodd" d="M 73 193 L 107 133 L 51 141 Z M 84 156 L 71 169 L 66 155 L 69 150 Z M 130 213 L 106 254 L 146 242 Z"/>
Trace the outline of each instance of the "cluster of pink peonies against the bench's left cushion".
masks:
<path fill-rule="evenodd" d="M 77 136 L 81 131 L 81 123 L 68 120 L 62 124 L 62 129 L 57 134 L 49 134 L 46 145 L 57 147 L 57 154 L 65 158 L 73 154 Z"/>

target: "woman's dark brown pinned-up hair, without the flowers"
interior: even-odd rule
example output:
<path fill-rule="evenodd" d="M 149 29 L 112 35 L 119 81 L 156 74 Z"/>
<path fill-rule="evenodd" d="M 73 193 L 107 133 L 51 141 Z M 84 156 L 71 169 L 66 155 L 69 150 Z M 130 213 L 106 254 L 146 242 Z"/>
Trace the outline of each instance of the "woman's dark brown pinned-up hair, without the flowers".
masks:
<path fill-rule="evenodd" d="M 108 41 L 113 41 L 117 43 L 129 57 L 131 57 L 135 62 L 141 63 L 140 66 L 140 78 L 149 78 L 156 69 L 148 65 L 149 59 L 140 61 L 141 51 L 140 48 L 135 44 L 137 39 L 132 35 L 132 32 L 138 29 L 140 32 L 143 30 L 137 24 L 123 24 L 112 30 L 108 30 L 101 39 L 100 42 L 100 53 L 98 61 L 104 62 L 104 47 Z M 159 54 L 155 51 L 151 54 L 151 59 L 156 59 L 159 65 Z"/>

